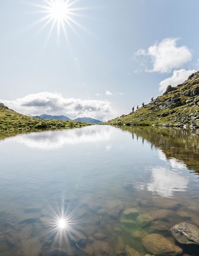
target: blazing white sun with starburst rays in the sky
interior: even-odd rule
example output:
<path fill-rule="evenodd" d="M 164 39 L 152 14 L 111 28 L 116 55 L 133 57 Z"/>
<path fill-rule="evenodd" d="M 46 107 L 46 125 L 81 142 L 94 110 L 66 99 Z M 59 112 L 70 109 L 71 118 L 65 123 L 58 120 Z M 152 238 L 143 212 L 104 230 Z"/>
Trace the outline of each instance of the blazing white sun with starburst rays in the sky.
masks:
<path fill-rule="evenodd" d="M 62 31 L 67 40 L 67 28 L 72 29 L 75 34 L 77 34 L 74 28 L 75 26 L 85 30 L 85 28 L 74 18 L 84 17 L 78 12 L 86 9 L 85 7 L 74 7 L 78 2 L 77 0 L 42 0 L 42 2 L 43 4 L 41 5 L 33 4 L 35 7 L 40 8 L 36 13 L 44 14 L 40 20 L 35 22 L 35 25 L 44 23 L 40 28 L 41 31 L 51 24 L 47 40 L 52 34 L 53 29 L 56 27 L 58 36 L 60 36 L 60 32 Z"/>

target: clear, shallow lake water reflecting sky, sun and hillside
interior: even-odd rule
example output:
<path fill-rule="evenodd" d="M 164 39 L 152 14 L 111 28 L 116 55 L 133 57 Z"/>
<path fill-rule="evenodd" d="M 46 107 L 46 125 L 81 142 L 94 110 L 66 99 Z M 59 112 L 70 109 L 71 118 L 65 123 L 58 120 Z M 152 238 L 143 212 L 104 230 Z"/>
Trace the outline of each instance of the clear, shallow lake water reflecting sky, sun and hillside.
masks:
<path fill-rule="evenodd" d="M 199 131 L 95 125 L 0 138 L 0 255 L 125 255 L 129 245 L 144 256 L 147 233 L 198 255 L 169 229 L 199 227 Z M 129 208 L 141 217 L 126 222 Z"/>

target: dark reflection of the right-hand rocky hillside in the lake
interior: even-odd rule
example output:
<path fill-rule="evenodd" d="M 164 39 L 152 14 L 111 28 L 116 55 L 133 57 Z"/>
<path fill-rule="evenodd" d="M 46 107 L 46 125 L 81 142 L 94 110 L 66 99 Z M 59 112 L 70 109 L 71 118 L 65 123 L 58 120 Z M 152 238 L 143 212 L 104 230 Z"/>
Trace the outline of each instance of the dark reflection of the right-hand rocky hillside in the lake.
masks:
<path fill-rule="evenodd" d="M 159 148 L 159 158 L 172 167 L 188 168 L 199 173 L 199 130 L 156 127 L 121 127 L 132 133 L 132 138 L 141 137 L 142 142 Z M 160 153 L 161 152 L 161 153 Z"/>

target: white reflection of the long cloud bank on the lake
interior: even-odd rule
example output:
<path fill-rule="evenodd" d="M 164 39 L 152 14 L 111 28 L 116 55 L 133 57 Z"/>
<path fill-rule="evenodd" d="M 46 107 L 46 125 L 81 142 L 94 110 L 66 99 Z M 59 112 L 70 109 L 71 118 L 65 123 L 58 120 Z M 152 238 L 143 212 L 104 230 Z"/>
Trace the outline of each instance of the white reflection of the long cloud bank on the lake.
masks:
<path fill-rule="evenodd" d="M 78 144 L 88 142 L 109 141 L 111 127 L 89 126 L 68 130 L 33 132 L 15 137 L 7 138 L 7 141 L 21 143 L 28 148 L 39 150 L 60 149 L 66 144 Z M 110 150 L 111 145 L 107 144 L 106 150 Z"/>

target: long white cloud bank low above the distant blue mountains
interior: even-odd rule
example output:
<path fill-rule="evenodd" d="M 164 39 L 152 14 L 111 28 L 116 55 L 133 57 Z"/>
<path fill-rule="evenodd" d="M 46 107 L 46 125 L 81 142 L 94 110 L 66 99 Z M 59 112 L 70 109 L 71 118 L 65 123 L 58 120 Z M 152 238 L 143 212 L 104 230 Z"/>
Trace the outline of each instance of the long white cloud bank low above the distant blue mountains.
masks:
<path fill-rule="evenodd" d="M 112 115 L 111 103 L 108 101 L 67 99 L 58 93 L 28 94 L 13 101 L 0 102 L 25 115 L 67 115 L 70 118 L 93 117 L 100 120 L 106 120 Z"/>

